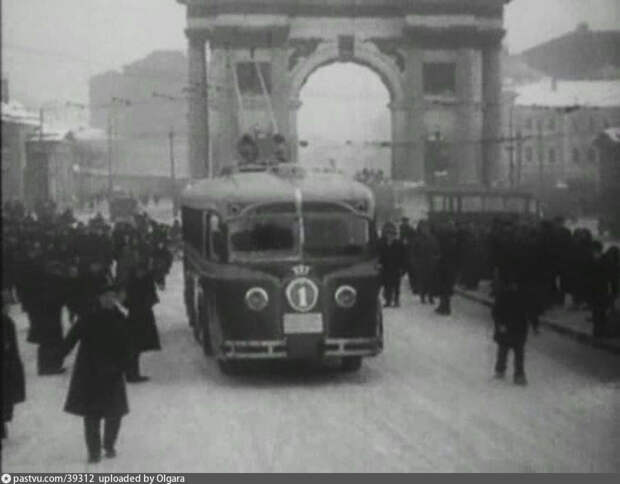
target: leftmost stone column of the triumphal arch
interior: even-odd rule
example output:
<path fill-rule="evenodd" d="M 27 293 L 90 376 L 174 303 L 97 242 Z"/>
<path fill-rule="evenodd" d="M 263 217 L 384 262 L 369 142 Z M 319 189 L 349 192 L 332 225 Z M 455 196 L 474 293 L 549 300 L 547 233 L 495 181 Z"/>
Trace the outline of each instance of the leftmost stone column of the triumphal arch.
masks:
<path fill-rule="evenodd" d="M 205 39 L 187 33 L 189 64 L 189 175 L 209 174 L 209 114 Z"/>

